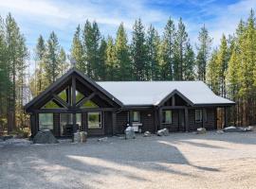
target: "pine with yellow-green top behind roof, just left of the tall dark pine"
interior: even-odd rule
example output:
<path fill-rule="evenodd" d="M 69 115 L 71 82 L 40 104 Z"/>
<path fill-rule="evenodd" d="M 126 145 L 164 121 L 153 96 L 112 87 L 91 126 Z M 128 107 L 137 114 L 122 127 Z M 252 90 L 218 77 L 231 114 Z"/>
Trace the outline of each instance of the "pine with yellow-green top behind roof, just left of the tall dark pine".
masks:
<path fill-rule="evenodd" d="M 129 80 L 132 75 L 132 62 L 130 60 L 129 46 L 127 35 L 123 24 L 121 23 L 118 29 L 115 50 L 117 56 L 117 65 L 119 66 L 119 80 Z"/>

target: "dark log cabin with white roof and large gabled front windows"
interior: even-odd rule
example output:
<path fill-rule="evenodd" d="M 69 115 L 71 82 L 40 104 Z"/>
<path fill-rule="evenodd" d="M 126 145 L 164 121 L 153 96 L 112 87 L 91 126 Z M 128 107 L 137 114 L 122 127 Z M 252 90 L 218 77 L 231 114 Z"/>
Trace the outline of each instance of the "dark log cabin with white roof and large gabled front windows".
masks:
<path fill-rule="evenodd" d="M 25 111 L 32 137 L 41 129 L 71 137 L 77 129 L 100 136 L 123 133 L 128 126 L 153 133 L 216 129 L 217 108 L 232 105 L 202 81 L 96 82 L 72 68 L 28 102 Z"/>

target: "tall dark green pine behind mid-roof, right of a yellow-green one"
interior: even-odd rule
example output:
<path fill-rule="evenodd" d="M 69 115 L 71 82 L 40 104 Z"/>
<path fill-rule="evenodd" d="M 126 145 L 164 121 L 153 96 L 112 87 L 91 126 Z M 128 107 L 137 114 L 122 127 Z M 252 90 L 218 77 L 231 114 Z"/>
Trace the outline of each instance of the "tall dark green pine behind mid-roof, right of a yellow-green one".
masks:
<path fill-rule="evenodd" d="M 135 79 L 145 80 L 147 78 L 147 49 L 145 31 L 144 26 L 141 23 L 141 19 L 136 20 L 134 25 L 133 40 L 131 44 L 131 57 Z"/>

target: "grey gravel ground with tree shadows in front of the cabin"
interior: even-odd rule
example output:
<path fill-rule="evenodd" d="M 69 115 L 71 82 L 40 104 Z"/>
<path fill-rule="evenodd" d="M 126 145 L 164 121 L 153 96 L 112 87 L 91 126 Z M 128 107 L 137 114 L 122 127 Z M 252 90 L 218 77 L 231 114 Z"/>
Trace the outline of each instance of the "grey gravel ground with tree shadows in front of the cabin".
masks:
<path fill-rule="evenodd" d="M 0 188 L 256 188 L 256 132 L 1 146 Z"/>

